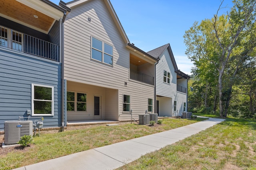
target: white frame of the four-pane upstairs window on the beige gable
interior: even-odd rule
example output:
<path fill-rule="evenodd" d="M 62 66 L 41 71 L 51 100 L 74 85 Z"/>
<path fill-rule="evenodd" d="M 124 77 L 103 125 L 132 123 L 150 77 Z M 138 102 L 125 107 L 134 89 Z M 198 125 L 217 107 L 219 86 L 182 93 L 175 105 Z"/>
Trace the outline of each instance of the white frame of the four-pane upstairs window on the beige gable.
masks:
<path fill-rule="evenodd" d="M 98 40 L 98 41 L 101 41 L 102 50 L 96 49 L 96 48 L 92 47 L 92 39 L 93 39 L 93 38 L 96 39 L 96 40 Z M 104 49 L 104 45 L 105 45 L 105 44 L 106 44 L 106 45 L 109 45 L 110 47 L 112 47 L 112 55 L 105 52 L 105 49 Z M 101 57 L 102 57 L 102 58 L 101 58 L 102 61 L 99 61 L 99 60 L 97 60 L 97 59 L 92 58 L 92 49 L 94 49 L 94 50 L 96 50 L 96 51 L 99 51 L 99 52 L 102 54 L 102 56 L 101 56 Z M 109 63 L 105 63 L 105 62 L 104 62 L 104 54 L 109 55 L 110 57 L 112 57 L 112 64 L 109 64 Z M 95 60 L 95 61 L 98 61 L 98 62 L 100 62 L 100 63 L 104 63 L 104 64 L 108 64 L 108 65 L 110 65 L 110 66 L 113 66 L 113 63 L 114 63 L 114 47 L 113 47 L 112 45 L 110 45 L 110 44 L 108 44 L 108 43 L 106 43 L 106 42 L 104 42 L 104 41 L 102 41 L 102 40 L 96 38 L 96 37 L 91 36 L 91 59 L 92 59 L 92 60 Z"/>

